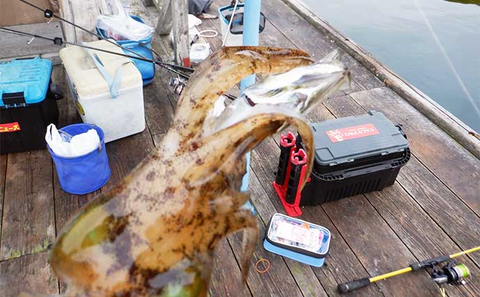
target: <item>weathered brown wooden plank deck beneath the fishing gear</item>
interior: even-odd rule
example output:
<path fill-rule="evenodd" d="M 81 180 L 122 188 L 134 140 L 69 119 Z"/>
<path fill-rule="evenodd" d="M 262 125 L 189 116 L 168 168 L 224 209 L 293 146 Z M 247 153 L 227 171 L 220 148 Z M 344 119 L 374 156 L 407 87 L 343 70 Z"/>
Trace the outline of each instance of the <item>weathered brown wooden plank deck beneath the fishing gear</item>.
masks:
<path fill-rule="evenodd" d="M 214 1 L 211 13 L 218 8 Z M 132 1 L 132 13 L 147 24 L 156 24 L 157 11 Z M 334 42 L 280 0 L 263 0 L 268 22 L 261 45 L 303 49 L 321 58 Z M 199 29 L 219 28 L 218 19 L 205 20 Z M 1 38 L 0 38 L 1 40 Z M 220 38 L 208 40 L 214 49 Z M 168 38 L 154 37 L 154 49 L 171 60 Z M 223 241 L 216 257 L 211 296 L 338 296 L 340 282 L 385 273 L 410 262 L 450 254 L 480 245 L 480 161 L 422 113 L 378 80 L 351 56 L 344 62 L 353 82 L 308 118 L 312 121 L 381 111 L 399 122 L 408 135 L 412 159 L 401 169 L 397 182 L 381 192 L 369 193 L 303 209 L 304 220 L 332 232 L 330 255 L 322 268 L 299 264 L 266 252 L 259 239 L 251 260 L 269 259 L 268 272 L 251 268 L 246 286 L 241 283 L 239 259 L 241 234 Z M 145 87 L 147 129 L 107 145 L 111 179 L 90 195 L 69 195 L 58 184 L 47 150 L 0 156 L 0 296 L 19 291 L 56 294 L 63 288 L 47 263 L 49 246 L 67 218 L 98 193 L 122 177 L 154 150 L 173 120 L 177 95 L 168 88 L 170 73 L 157 68 Z M 54 82 L 67 92 L 61 66 L 54 68 Z M 232 90 L 235 92 L 238 90 Z M 59 102 L 61 126 L 79 122 L 70 97 Z M 271 181 L 278 165 L 276 137 L 267 138 L 252 152 L 250 189 L 258 212 L 260 234 L 275 212 L 284 212 Z M 472 272 L 465 287 L 448 287 L 448 296 L 478 297 L 480 253 L 461 257 Z M 439 296 L 438 287 L 425 272 L 410 273 L 378 282 L 350 296 Z"/>

